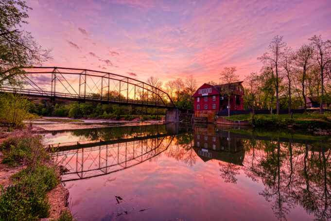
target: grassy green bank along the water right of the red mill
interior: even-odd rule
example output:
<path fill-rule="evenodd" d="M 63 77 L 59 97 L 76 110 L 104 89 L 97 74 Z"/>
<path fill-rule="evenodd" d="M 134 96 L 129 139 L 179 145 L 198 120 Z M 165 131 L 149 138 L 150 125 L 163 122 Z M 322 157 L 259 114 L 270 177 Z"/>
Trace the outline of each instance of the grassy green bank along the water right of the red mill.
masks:
<path fill-rule="evenodd" d="M 330 129 L 331 113 L 307 113 L 307 114 L 240 114 L 225 117 L 230 120 L 248 120 L 256 127 L 296 127 L 304 129 Z"/>

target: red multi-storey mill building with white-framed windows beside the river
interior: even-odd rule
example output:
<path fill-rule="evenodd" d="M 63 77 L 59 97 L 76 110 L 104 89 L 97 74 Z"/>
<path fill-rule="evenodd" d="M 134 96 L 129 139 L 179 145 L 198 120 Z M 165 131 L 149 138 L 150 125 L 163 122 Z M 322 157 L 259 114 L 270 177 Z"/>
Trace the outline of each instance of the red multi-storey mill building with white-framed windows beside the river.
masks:
<path fill-rule="evenodd" d="M 243 81 L 234 82 L 230 84 L 230 110 L 243 110 L 243 96 L 244 87 Z M 228 107 L 227 96 L 224 94 L 225 88 L 228 84 L 209 85 L 203 84 L 194 94 L 194 116 L 212 117 L 218 113 L 219 110 L 226 110 Z"/>

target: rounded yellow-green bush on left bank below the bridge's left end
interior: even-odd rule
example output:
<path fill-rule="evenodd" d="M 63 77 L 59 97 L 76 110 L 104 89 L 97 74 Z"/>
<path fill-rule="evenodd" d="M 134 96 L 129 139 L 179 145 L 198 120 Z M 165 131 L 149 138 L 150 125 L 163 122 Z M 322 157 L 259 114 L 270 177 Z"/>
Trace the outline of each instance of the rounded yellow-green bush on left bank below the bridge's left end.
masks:
<path fill-rule="evenodd" d="M 23 120 L 32 119 L 30 102 L 21 95 L 5 93 L 0 95 L 0 121 L 13 128 L 22 127 Z"/>

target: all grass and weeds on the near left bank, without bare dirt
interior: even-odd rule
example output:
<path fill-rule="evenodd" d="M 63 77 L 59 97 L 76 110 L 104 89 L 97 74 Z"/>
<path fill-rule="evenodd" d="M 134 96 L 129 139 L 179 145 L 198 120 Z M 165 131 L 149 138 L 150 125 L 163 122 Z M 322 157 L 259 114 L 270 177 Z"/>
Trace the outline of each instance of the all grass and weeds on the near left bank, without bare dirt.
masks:
<path fill-rule="evenodd" d="M 8 138 L 0 148 L 3 163 L 27 166 L 12 176 L 12 184 L 1 186 L 0 221 L 46 218 L 50 209 L 46 194 L 60 183 L 60 177 L 42 137 L 27 132 Z"/>

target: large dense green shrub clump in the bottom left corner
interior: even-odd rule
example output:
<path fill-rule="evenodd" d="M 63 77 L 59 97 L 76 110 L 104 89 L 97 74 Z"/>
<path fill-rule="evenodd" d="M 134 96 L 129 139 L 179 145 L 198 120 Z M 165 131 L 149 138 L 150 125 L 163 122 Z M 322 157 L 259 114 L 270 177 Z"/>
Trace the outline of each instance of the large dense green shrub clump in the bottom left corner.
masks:
<path fill-rule="evenodd" d="M 59 184 L 54 167 L 27 168 L 14 177 L 12 185 L 1 186 L 0 220 L 36 220 L 47 217 L 46 193 Z"/>

